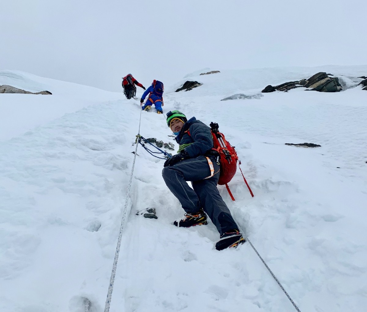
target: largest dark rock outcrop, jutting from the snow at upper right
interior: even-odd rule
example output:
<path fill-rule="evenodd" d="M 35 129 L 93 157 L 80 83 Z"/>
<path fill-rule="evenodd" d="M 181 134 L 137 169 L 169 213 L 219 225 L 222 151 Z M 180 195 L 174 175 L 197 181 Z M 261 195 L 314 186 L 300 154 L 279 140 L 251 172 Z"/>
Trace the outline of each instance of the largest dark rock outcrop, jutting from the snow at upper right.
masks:
<path fill-rule="evenodd" d="M 342 86 L 339 83 L 339 79 L 337 77 L 329 77 L 331 74 L 326 74 L 324 72 L 317 73 L 311 76 L 309 79 L 301 79 L 299 81 L 290 81 L 282 83 L 278 86 L 268 85 L 262 93 L 274 92 L 274 91 L 284 91 L 288 92 L 288 90 L 305 87 L 310 88 L 309 90 L 319 91 L 319 92 L 339 92 L 342 89 Z"/>

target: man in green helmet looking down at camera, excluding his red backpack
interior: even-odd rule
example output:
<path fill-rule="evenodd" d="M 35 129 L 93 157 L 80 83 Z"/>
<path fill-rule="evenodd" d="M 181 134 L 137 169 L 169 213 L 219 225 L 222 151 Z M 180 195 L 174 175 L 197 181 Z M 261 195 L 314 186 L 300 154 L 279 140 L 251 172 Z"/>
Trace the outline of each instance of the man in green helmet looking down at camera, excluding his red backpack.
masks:
<path fill-rule="evenodd" d="M 221 238 L 236 235 L 239 241 L 244 241 L 217 189 L 219 155 L 212 149 L 210 128 L 195 117 L 187 120 L 180 111 L 167 113 L 167 125 L 177 135 L 179 149 L 177 155 L 164 163 L 162 175 L 166 185 L 186 212 L 183 219 L 176 220 L 174 225 L 204 225 L 207 224 L 208 215 Z M 190 188 L 186 181 L 191 181 L 193 188 Z"/>

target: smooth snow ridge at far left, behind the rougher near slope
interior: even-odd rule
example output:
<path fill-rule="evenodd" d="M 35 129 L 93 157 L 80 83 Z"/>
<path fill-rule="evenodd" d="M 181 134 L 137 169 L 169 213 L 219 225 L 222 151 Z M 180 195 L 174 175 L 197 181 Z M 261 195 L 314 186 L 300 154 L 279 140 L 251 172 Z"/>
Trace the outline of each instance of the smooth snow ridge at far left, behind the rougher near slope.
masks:
<path fill-rule="evenodd" d="M 11 85 L 32 92 L 49 90 L 52 93 L 51 96 L 35 95 L 34 98 L 28 97 L 28 94 L 1 94 L 0 141 L 60 118 L 65 113 L 73 113 L 101 101 L 121 98 L 120 93 L 22 71 L 0 70 L 0 85 Z"/>

